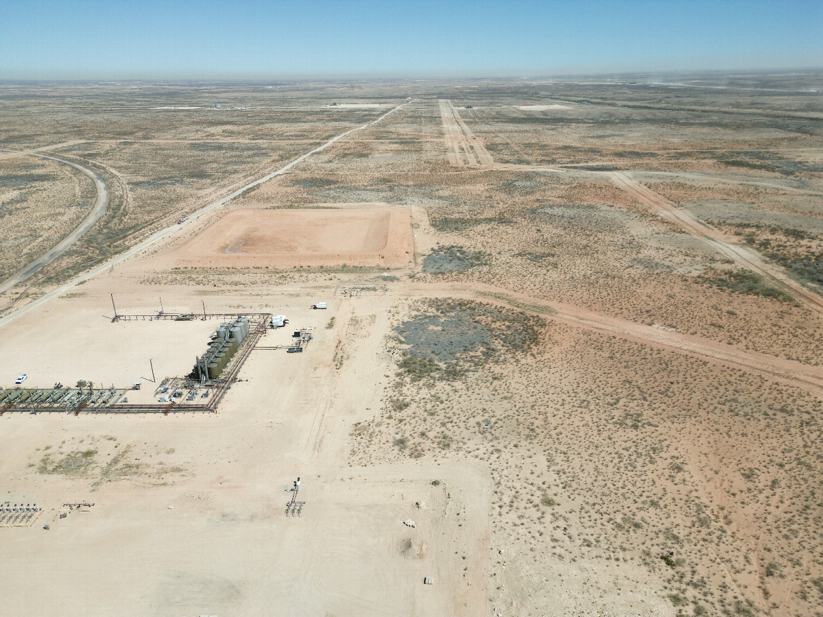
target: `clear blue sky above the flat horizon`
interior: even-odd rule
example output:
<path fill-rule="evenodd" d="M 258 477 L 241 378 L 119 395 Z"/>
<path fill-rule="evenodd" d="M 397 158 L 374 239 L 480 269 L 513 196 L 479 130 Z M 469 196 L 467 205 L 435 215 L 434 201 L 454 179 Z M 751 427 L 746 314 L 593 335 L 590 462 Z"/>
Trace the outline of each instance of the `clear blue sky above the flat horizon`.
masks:
<path fill-rule="evenodd" d="M 823 0 L 2 0 L 0 79 L 823 67 Z"/>

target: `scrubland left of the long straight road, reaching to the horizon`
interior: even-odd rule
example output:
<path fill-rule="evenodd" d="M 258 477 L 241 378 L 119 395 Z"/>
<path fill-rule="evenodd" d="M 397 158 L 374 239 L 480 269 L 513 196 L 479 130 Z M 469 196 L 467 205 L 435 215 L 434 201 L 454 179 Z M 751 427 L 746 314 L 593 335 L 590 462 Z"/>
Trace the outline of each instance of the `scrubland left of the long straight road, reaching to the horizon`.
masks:
<path fill-rule="evenodd" d="M 28 281 L 35 284 L 27 293 L 31 299 L 381 113 L 370 107 L 339 111 L 322 97 L 307 99 L 308 93 L 281 86 L 210 87 L 198 89 L 197 100 L 190 99 L 188 88 L 139 84 L 104 93 L 82 86 L 5 85 L 2 95 L 0 146 L 30 151 L 56 145 L 50 155 L 88 166 L 104 179 L 110 195 L 94 227 L 48 271 Z M 26 156 L 0 163 L 31 165 L 32 160 L 39 162 Z M 39 234 L 40 219 L 27 216 L 15 238 Z M 36 245 L 47 249 L 49 241 L 44 234 Z M 21 289 L 9 290 L 7 298 Z"/>

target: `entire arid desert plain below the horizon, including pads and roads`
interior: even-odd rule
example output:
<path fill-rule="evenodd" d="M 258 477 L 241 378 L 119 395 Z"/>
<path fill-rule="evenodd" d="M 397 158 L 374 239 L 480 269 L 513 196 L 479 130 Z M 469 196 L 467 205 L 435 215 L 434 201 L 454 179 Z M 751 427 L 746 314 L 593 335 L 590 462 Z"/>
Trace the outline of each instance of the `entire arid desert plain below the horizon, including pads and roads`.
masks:
<path fill-rule="evenodd" d="M 0 118 L 0 614 L 823 615 L 820 72 Z"/>

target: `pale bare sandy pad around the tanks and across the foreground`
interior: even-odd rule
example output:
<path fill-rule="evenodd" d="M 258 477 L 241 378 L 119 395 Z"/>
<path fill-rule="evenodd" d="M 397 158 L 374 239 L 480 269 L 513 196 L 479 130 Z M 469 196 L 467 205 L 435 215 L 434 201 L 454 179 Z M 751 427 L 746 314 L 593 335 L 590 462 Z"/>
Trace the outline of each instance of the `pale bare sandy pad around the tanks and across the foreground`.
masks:
<path fill-rule="evenodd" d="M 58 301 L 88 324 L 85 336 L 127 348 L 151 346 L 164 356 L 163 369 L 188 368 L 188 343 L 165 346 L 172 336 L 166 326 L 183 324 L 91 321 L 101 299 L 97 290 L 113 282 L 105 279 L 87 284 L 88 297 Z M 121 302 L 139 305 L 136 297 L 121 296 Z M 225 301 L 257 304 L 247 297 Z M 174 297 L 164 302 L 185 304 Z M 371 313 L 374 307 L 342 306 L 338 300 L 319 313 L 309 311 L 308 303 L 308 297 L 277 300 L 290 325 L 321 326 L 305 354 L 254 352 L 217 415 L 163 419 L 170 421 L 2 418 L 5 499 L 46 508 L 36 527 L 2 537 L 10 555 L 2 582 L 4 610 L 43 615 L 83 606 L 85 615 L 249 615 L 272 614 L 276 604 L 278 615 L 484 610 L 482 573 L 491 549 L 487 472 L 480 466 L 414 463 L 346 466 L 347 430 L 379 405 L 379 374 L 388 368 L 388 356 L 378 330 L 358 337 L 346 370 L 338 372 L 332 355 L 346 335 L 324 329 L 323 321 L 336 316 L 347 322 L 360 309 Z M 45 333 L 53 342 L 33 355 L 30 350 L 30 363 L 57 355 L 61 341 L 72 338 L 47 308 L 33 313 L 26 322 L 53 324 L 53 332 Z M 137 327 L 126 332 L 129 326 Z M 197 341 L 209 329 L 208 323 L 191 322 L 173 337 Z M 105 360 L 114 355 L 123 357 L 119 351 L 89 350 L 81 358 L 83 371 L 117 381 L 124 369 Z M 41 372 L 46 369 L 49 375 L 67 370 L 44 365 Z M 36 464 L 38 450 L 46 446 L 65 451 L 66 442 L 93 445 L 103 465 L 118 452 L 112 444 L 132 448 L 134 464 L 142 467 L 122 481 L 97 486 L 93 476 L 46 476 L 38 482 L 25 461 Z M 291 498 L 286 488 L 297 476 L 306 506 L 300 517 L 285 517 Z M 439 487 L 431 485 L 435 479 Z M 85 501 L 95 503 L 90 512 L 58 518 L 62 503 Z M 415 528 L 402 524 L 409 518 Z M 469 524 L 458 526 L 458 520 Z M 50 531 L 41 529 L 45 523 Z M 44 574 L 49 585 L 35 601 L 29 582 Z M 435 585 L 424 586 L 424 576 L 435 578 Z M 135 580 L 141 581 L 137 594 Z"/>

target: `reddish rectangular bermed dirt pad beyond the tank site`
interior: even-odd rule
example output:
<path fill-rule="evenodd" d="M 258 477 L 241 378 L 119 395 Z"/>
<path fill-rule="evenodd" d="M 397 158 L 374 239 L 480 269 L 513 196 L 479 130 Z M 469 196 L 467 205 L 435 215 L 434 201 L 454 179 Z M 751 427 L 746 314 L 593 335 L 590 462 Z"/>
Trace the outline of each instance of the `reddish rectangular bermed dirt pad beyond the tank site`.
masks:
<path fill-rule="evenodd" d="M 178 267 L 408 267 L 406 207 L 236 210 L 175 251 Z"/>

